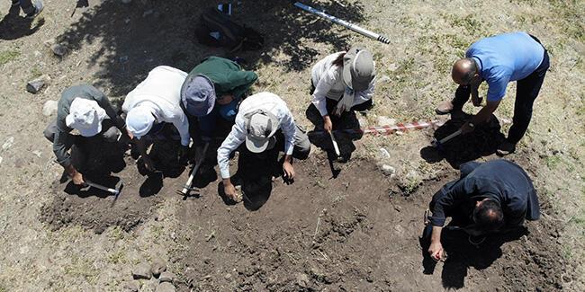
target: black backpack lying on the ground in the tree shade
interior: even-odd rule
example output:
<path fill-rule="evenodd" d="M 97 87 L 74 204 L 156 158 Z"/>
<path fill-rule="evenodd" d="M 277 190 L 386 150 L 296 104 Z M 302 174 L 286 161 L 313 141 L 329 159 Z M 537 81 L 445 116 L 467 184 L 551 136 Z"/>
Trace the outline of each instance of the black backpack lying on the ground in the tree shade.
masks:
<path fill-rule="evenodd" d="M 195 30 L 199 43 L 211 47 L 224 47 L 230 51 L 260 49 L 264 38 L 257 31 L 241 26 L 217 8 L 206 10 Z"/>

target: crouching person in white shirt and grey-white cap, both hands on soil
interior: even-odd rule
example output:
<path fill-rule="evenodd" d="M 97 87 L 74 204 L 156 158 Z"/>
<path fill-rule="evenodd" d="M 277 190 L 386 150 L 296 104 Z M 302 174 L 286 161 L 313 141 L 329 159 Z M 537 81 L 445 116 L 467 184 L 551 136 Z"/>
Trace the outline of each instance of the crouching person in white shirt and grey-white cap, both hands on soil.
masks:
<path fill-rule="evenodd" d="M 280 141 L 279 141 L 280 140 Z M 217 151 L 223 188 L 230 199 L 236 189 L 229 180 L 229 155 L 246 142 L 247 150 L 262 153 L 284 140 L 284 177 L 294 178 L 293 157 L 306 159 L 311 151 L 307 134 L 299 128 L 286 103 L 275 93 L 257 93 L 248 96 L 239 105 L 236 123 Z"/>

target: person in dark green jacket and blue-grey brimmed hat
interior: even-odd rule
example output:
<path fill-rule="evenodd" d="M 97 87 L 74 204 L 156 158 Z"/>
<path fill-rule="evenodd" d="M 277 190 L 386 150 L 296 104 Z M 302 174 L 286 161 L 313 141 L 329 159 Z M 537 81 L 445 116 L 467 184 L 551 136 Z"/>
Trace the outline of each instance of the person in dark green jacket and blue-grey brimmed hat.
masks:
<path fill-rule="evenodd" d="M 257 79 L 256 73 L 227 58 L 210 57 L 195 66 L 181 88 L 181 106 L 199 124 L 192 136 L 213 137 L 219 117 L 233 123 L 238 103 Z"/>

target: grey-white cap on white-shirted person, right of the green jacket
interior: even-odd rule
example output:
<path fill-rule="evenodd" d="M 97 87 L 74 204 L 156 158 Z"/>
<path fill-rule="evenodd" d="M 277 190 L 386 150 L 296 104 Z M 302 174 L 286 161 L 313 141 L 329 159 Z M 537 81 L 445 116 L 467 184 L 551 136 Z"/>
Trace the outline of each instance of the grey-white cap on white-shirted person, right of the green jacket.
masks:
<path fill-rule="evenodd" d="M 245 117 L 246 147 L 252 153 L 260 153 L 275 142 L 279 122 L 276 116 L 262 109 L 250 111 Z"/>

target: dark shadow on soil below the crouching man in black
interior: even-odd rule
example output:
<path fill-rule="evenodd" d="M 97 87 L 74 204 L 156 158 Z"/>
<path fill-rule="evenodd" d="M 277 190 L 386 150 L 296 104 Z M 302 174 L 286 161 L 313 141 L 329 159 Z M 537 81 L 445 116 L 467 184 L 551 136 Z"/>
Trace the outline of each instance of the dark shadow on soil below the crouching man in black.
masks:
<path fill-rule="evenodd" d="M 485 270 L 491 264 L 502 256 L 501 246 L 518 240 L 523 235 L 527 235 L 528 230 L 525 226 L 517 229 L 500 233 L 490 234 L 482 241 L 473 242 L 469 235 L 461 229 L 443 229 L 441 242 L 447 253 L 447 259 L 443 263 L 441 279 L 444 288 L 464 288 L 467 270 L 473 267 L 475 270 Z M 430 234 L 427 234 L 429 238 Z M 433 261 L 428 254 L 428 240 L 420 238 L 420 244 L 423 253 L 423 273 L 433 274 L 437 261 Z"/>

